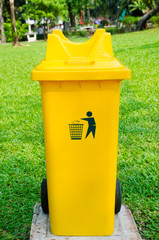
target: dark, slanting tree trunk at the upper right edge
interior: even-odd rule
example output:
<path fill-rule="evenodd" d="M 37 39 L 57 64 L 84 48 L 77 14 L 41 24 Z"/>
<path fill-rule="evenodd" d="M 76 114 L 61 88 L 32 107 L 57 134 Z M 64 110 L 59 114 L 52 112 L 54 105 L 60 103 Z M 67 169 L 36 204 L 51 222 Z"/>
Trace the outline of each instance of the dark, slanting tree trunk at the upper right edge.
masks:
<path fill-rule="evenodd" d="M 150 12 L 146 13 L 137 23 L 136 30 L 141 31 L 146 28 L 147 21 L 159 12 L 159 4 L 156 4 L 156 7 L 153 8 Z"/>

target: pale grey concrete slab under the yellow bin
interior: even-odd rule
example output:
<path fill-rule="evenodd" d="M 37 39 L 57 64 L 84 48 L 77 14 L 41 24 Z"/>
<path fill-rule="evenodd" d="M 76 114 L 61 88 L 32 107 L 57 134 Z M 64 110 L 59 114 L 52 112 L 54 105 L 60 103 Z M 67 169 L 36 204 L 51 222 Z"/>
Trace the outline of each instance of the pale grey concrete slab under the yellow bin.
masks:
<path fill-rule="evenodd" d="M 40 204 L 34 207 L 30 240 L 142 240 L 132 213 L 122 205 L 120 213 L 115 215 L 115 229 L 111 236 L 103 237 L 68 237 L 55 236 L 50 231 L 49 215 L 44 214 Z"/>

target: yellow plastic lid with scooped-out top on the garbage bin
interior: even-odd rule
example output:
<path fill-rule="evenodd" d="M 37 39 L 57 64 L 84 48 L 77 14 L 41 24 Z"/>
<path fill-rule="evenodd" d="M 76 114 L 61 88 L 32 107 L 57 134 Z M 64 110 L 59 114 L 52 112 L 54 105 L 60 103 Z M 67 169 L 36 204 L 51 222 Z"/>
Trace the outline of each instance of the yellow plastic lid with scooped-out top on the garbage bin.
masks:
<path fill-rule="evenodd" d="M 48 35 L 46 58 L 31 72 L 32 80 L 122 80 L 130 70 L 113 56 L 111 35 L 96 30 L 86 42 L 69 41 L 60 30 Z"/>

